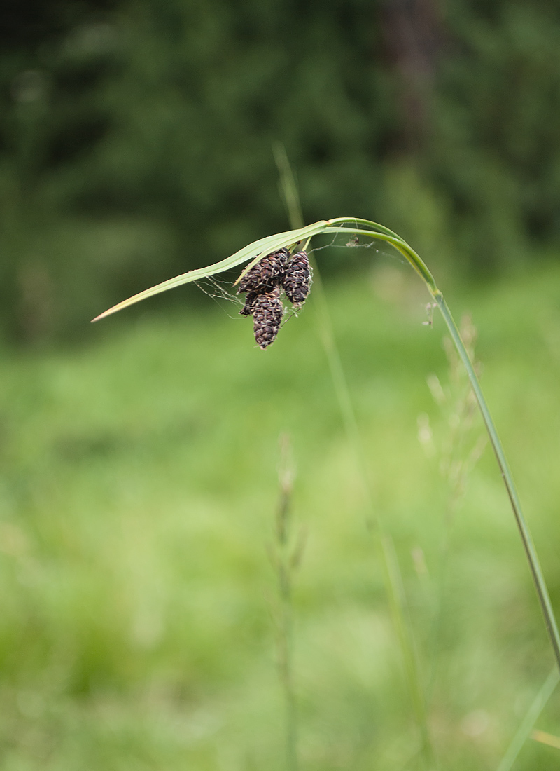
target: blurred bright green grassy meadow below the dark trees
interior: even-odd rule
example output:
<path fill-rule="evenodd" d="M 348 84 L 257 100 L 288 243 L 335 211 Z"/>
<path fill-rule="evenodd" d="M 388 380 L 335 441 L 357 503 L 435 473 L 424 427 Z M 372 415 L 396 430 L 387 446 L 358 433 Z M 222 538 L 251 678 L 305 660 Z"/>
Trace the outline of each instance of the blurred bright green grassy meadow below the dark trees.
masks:
<path fill-rule="evenodd" d="M 401 267 L 368 263 L 328 288 L 330 308 L 427 682 L 435 662 L 441 767 L 495 769 L 552 655 L 488 449 L 451 527 L 434 648 L 450 493 L 437 449 L 448 426 L 426 378 L 448 382 L 448 363 L 443 324 L 422 324 L 428 297 Z M 479 329 L 483 387 L 557 608 L 559 279 L 548 265 L 449 294 Z M 1 354 L 2 769 L 283 768 L 267 557 L 282 433 L 308 534 L 294 597 L 302 768 L 415 768 L 313 296 L 264 353 L 235 305 L 146 308 L 128 328 L 92 328 L 89 347 Z M 558 706 L 540 728 L 560 732 Z M 528 742 L 515 768 L 558 758 Z"/>

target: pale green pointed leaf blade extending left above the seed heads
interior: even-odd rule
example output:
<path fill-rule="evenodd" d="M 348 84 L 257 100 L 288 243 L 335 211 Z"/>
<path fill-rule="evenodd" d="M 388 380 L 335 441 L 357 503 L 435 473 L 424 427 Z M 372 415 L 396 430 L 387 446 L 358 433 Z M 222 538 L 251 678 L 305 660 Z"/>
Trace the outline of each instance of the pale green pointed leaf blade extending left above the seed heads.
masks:
<path fill-rule="evenodd" d="M 161 284 L 156 284 L 156 286 L 139 292 L 138 295 L 132 295 L 132 297 L 129 297 L 128 299 L 117 303 L 117 305 L 113 305 L 112 308 L 109 308 L 107 311 L 100 313 L 99 316 L 93 318 L 92 321 L 98 322 L 101 318 L 105 318 L 117 311 L 122 311 L 124 308 L 128 308 L 129 305 L 134 305 L 136 302 L 141 302 L 154 295 L 159 295 L 163 291 L 168 291 L 168 289 L 174 289 L 183 284 L 190 284 L 193 281 L 200 281 L 202 278 L 208 278 L 216 273 L 223 273 L 223 271 L 227 271 L 230 268 L 236 268 L 237 265 L 240 265 L 247 260 L 253 260 L 254 258 L 254 261 L 256 262 L 261 254 L 270 254 L 270 252 L 277 251 L 277 249 L 280 249 L 281 247 L 289 246 L 297 241 L 303 241 L 305 238 L 322 233 L 326 225 L 327 221 L 320 221 L 307 225 L 307 227 L 300 227 L 293 231 L 287 231 L 286 233 L 277 233 L 273 236 L 260 238 L 258 241 L 253 241 L 252 244 L 236 251 L 235 254 L 232 254 L 225 260 L 216 262 L 213 265 L 207 265 L 206 268 L 197 268 L 194 271 L 188 271 L 175 278 L 169 278 Z M 247 269 L 250 267 L 251 265 L 248 265 Z"/>

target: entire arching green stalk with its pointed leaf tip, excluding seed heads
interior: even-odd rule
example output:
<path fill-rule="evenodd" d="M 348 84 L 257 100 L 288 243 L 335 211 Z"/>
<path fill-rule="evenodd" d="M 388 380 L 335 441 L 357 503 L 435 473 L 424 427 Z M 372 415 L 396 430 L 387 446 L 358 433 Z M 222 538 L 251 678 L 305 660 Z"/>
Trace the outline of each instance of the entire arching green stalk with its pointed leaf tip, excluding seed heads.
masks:
<path fill-rule="evenodd" d="M 414 249 L 409 246 L 409 244 L 407 244 L 407 242 L 404 241 L 400 236 L 394 233 L 394 231 L 389 230 L 388 227 L 384 227 L 383 225 L 371 222 L 369 220 L 363 220 L 356 217 L 336 217 L 333 220 L 321 220 L 319 222 L 315 222 L 314 224 L 307 225 L 306 227 L 300 227 L 291 231 L 286 231 L 284 233 L 277 233 L 272 236 L 260 238 L 258 241 L 253 241 L 252 244 L 243 247 L 243 249 L 240 249 L 240 251 L 236 251 L 235 254 L 232 254 L 230 257 L 222 260 L 221 262 L 209 265 L 206 268 L 198 268 L 197 270 L 183 273 L 179 276 L 176 276 L 176 278 L 171 278 L 169 281 L 163 281 L 162 284 L 157 284 L 152 288 L 146 289 L 146 291 L 139 292 L 138 295 L 133 295 L 131 298 L 120 302 L 118 305 L 114 305 L 112 308 L 109 308 L 109 310 L 94 318 L 93 321 L 99 321 L 99 319 L 105 318 L 112 313 L 116 313 L 116 311 L 120 311 L 123 308 L 128 308 L 129 305 L 133 305 L 134 303 L 145 300 L 146 298 L 152 297 L 153 295 L 159 295 L 160 292 L 173 289 L 175 287 L 181 286 L 182 284 L 189 284 L 193 281 L 199 281 L 202 278 L 208 278 L 217 273 L 222 273 L 223 271 L 236 268 L 236 266 L 248 262 L 249 264 L 246 265 L 245 270 L 240 276 L 240 278 L 242 278 L 246 271 L 250 270 L 250 268 L 252 268 L 254 264 L 257 264 L 257 262 L 260 261 L 260 259 L 262 259 L 265 255 L 270 254 L 273 251 L 277 251 L 282 247 L 291 247 L 294 244 L 299 244 L 301 241 L 309 242 L 312 237 L 323 233 L 352 234 L 356 236 L 364 236 L 377 239 L 378 241 L 385 241 L 387 244 L 391 244 L 391 246 L 393 246 L 404 256 L 404 258 L 407 259 L 412 268 L 414 268 L 414 271 L 416 271 L 422 281 L 424 281 L 424 284 L 426 284 L 431 298 L 434 300 L 435 304 L 441 311 L 441 315 L 444 318 L 445 324 L 448 326 L 448 330 L 454 346 L 457 349 L 458 355 L 460 356 L 465 369 L 467 370 L 468 379 L 471 382 L 471 387 L 478 402 L 478 406 L 482 414 L 482 419 L 484 420 L 486 430 L 491 441 L 492 449 L 494 449 L 496 460 L 498 461 L 501 476 L 504 480 L 509 501 L 511 503 L 511 509 L 513 510 L 519 534 L 521 535 L 521 541 L 525 549 L 525 555 L 527 557 L 529 569 L 531 571 L 531 577 L 533 579 L 533 583 L 535 584 L 538 601 L 541 605 L 542 614 L 545 618 L 545 625 L 548 631 L 548 637 L 551 641 L 552 649 L 554 651 L 556 664 L 560 670 L 560 635 L 558 634 L 558 625 L 556 623 L 554 611 L 552 610 L 552 603 L 548 594 L 545 577 L 542 573 L 542 568 L 538 561 L 538 555 L 535 550 L 535 545 L 533 544 L 531 532 L 525 520 L 525 516 L 521 510 L 521 503 L 519 501 L 517 490 L 515 489 L 515 483 L 513 481 L 513 477 L 511 476 L 508 461 L 506 460 L 504 450 L 501 447 L 498 432 L 496 431 L 494 421 L 491 418 L 491 414 L 488 409 L 485 396 L 482 392 L 480 382 L 478 382 L 478 377 L 476 372 L 474 372 L 474 366 L 472 365 L 471 359 L 469 358 L 467 348 L 465 348 L 464 342 L 461 339 L 461 335 L 457 325 L 454 322 L 454 318 L 451 315 L 451 311 L 449 310 L 448 305 L 444 299 L 444 295 L 438 289 L 431 271 L 428 269 L 420 256 L 414 251 Z"/>

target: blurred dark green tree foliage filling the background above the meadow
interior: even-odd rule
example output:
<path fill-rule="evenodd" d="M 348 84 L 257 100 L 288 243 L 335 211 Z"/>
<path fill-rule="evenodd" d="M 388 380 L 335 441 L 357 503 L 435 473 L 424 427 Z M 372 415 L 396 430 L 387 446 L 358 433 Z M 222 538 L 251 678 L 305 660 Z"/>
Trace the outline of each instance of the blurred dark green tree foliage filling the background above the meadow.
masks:
<path fill-rule="evenodd" d="M 307 221 L 374 217 L 477 270 L 556 244 L 558 22 L 552 0 L 9 0 L 5 331 L 78 332 L 283 229 L 274 140 Z"/>

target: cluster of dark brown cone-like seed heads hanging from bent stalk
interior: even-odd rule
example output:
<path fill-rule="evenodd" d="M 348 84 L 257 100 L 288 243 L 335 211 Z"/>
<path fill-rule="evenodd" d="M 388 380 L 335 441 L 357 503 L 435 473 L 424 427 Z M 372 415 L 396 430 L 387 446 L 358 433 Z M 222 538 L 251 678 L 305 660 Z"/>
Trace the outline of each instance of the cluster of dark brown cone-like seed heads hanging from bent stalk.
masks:
<path fill-rule="evenodd" d="M 294 308 L 301 308 L 309 295 L 311 268 L 306 251 L 290 255 L 279 249 L 262 258 L 240 281 L 237 294 L 246 295 L 242 316 L 253 316 L 257 345 L 264 350 L 276 340 L 283 305 L 280 291 L 285 291 Z"/>

